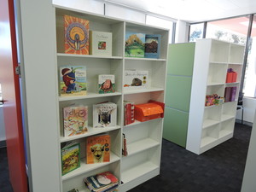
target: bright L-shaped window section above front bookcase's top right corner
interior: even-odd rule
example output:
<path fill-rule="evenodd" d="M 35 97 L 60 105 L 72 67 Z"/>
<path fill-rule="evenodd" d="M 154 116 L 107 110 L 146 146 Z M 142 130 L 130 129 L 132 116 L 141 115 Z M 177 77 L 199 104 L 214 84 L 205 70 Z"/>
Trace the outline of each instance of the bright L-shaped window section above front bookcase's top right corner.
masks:
<path fill-rule="evenodd" d="M 146 24 L 150 26 L 159 26 L 166 29 L 169 29 L 169 44 L 174 43 L 172 38 L 172 32 L 173 32 L 173 21 L 172 20 L 164 20 L 160 19 L 158 17 L 154 17 L 151 15 L 146 16 Z"/>

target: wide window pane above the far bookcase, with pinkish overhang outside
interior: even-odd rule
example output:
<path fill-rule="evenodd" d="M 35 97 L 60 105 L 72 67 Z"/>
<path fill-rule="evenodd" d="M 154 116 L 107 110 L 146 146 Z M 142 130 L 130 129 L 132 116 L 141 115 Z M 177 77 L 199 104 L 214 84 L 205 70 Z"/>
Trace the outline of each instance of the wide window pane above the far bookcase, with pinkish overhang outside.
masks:
<path fill-rule="evenodd" d="M 248 16 L 207 22 L 206 38 L 217 38 L 230 43 L 245 45 L 247 41 L 248 22 Z"/>

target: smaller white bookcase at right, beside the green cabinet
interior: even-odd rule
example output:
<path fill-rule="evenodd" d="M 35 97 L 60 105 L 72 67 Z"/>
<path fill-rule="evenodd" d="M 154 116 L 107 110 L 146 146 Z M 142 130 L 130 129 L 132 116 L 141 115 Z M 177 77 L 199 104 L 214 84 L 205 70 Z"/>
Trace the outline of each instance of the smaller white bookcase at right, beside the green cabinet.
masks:
<path fill-rule="evenodd" d="M 233 137 L 244 49 L 214 39 L 196 42 L 186 146 L 189 151 L 201 154 Z M 234 83 L 225 83 L 228 68 L 237 73 Z M 236 87 L 235 102 L 205 107 L 207 95 L 224 96 L 226 87 Z"/>

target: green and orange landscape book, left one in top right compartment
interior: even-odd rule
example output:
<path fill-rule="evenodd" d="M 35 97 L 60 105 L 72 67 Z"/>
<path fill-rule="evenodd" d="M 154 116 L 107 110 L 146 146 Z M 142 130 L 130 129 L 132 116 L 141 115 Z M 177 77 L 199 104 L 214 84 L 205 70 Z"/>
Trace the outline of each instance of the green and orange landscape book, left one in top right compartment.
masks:
<path fill-rule="evenodd" d="M 144 57 L 145 34 L 136 32 L 125 33 L 125 56 Z"/>

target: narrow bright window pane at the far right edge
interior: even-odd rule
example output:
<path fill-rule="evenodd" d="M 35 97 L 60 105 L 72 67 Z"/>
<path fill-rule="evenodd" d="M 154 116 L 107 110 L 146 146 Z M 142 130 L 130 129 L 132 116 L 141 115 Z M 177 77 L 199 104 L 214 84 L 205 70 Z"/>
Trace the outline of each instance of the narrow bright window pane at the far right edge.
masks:
<path fill-rule="evenodd" d="M 247 22 L 248 25 L 248 22 Z M 253 16 L 253 26 L 247 55 L 247 67 L 244 78 L 244 96 L 256 97 L 256 15 Z"/>

